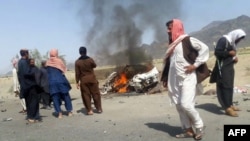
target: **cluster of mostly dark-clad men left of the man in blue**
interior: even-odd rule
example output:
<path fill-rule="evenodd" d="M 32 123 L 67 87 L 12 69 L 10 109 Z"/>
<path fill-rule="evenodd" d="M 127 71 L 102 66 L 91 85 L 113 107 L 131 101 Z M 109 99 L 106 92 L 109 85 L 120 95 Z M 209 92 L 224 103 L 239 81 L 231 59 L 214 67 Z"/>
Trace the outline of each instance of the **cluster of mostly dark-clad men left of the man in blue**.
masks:
<path fill-rule="evenodd" d="M 42 62 L 41 68 L 38 69 L 35 65 L 35 60 L 29 57 L 27 49 L 21 49 L 20 55 L 21 58 L 18 61 L 16 59 L 12 61 L 14 92 L 19 95 L 21 101 L 22 110 L 20 113 L 27 114 L 27 119 L 35 116 L 38 120 L 40 101 L 43 103 L 42 108 L 51 108 L 51 97 L 48 91 L 44 62 Z M 38 87 L 38 85 L 41 87 Z"/>

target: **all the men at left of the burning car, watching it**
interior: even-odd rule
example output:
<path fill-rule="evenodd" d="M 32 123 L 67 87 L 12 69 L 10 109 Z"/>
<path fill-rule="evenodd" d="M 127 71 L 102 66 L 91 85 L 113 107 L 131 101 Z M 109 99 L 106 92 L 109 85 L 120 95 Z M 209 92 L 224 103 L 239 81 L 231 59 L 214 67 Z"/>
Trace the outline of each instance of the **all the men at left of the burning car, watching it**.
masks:
<path fill-rule="evenodd" d="M 53 106 L 58 118 L 62 118 L 60 108 L 62 102 L 65 102 L 65 108 L 68 116 L 72 116 L 73 106 L 69 91 L 71 85 L 65 76 L 66 66 L 58 57 L 58 50 L 51 49 L 50 57 L 41 62 L 41 68 L 35 65 L 35 60 L 29 57 L 27 49 L 21 49 L 21 59 L 12 61 L 14 93 L 19 94 L 22 110 L 20 113 L 27 114 L 29 122 L 41 120 L 39 114 L 39 102 L 42 101 L 45 109 Z M 86 47 L 79 48 L 80 57 L 75 62 L 77 89 L 81 90 L 82 101 L 87 115 L 93 115 L 94 112 L 102 113 L 101 94 L 98 81 L 94 74 L 96 67 L 95 61 L 87 56 Z M 17 78 L 16 78 L 17 76 Z M 20 92 L 15 86 L 20 84 Z M 96 111 L 92 110 L 91 100 L 94 101 Z"/>

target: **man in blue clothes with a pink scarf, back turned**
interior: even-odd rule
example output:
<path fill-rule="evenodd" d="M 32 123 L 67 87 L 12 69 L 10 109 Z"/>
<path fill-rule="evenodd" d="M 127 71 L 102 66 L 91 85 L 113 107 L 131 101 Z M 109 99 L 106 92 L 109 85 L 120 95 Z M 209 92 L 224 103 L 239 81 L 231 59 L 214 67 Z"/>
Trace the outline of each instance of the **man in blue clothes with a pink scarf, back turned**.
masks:
<path fill-rule="evenodd" d="M 49 59 L 46 61 L 46 70 L 48 73 L 49 92 L 53 100 L 54 110 L 57 117 L 63 117 L 61 109 L 62 101 L 67 110 L 68 116 L 73 116 L 73 105 L 70 96 L 71 85 L 65 76 L 67 68 L 58 56 L 58 49 L 53 48 L 49 52 Z"/>

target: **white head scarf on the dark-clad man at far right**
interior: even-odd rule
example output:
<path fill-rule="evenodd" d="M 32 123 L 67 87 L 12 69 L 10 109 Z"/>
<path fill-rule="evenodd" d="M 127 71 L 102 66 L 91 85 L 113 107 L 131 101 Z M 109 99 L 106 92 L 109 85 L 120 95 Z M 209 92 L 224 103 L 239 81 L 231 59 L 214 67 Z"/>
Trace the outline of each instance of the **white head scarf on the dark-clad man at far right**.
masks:
<path fill-rule="evenodd" d="M 246 36 L 246 33 L 242 29 L 235 29 L 228 34 L 223 35 L 223 37 L 225 37 L 234 48 L 236 48 L 235 41 L 244 36 Z"/>

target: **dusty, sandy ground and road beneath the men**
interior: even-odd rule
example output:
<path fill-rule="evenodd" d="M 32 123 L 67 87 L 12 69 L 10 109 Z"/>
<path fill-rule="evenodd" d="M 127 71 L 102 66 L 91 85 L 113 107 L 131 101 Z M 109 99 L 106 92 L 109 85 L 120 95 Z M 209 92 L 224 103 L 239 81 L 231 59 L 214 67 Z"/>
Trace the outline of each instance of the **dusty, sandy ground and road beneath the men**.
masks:
<path fill-rule="evenodd" d="M 249 58 L 242 55 L 236 65 L 235 85 L 249 89 Z M 240 63 L 241 62 L 241 63 Z M 244 66 L 243 66 L 244 65 Z M 160 67 L 160 65 L 159 65 Z M 72 117 L 57 119 L 54 110 L 41 109 L 42 122 L 27 123 L 19 99 L 10 93 L 12 78 L 0 79 L 0 141 L 192 141 L 176 139 L 181 132 L 175 107 L 167 91 L 156 94 L 107 94 L 102 96 L 104 112 L 85 115 L 80 92 L 72 85 Z M 214 84 L 204 82 L 204 91 Z M 226 124 L 250 124 L 250 93 L 235 93 L 239 117 L 229 117 L 220 108 L 216 95 L 197 96 L 196 107 L 206 125 L 203 140 L 223 141 Z M 62 105 L 62 109 L 64 105 Z"/>

